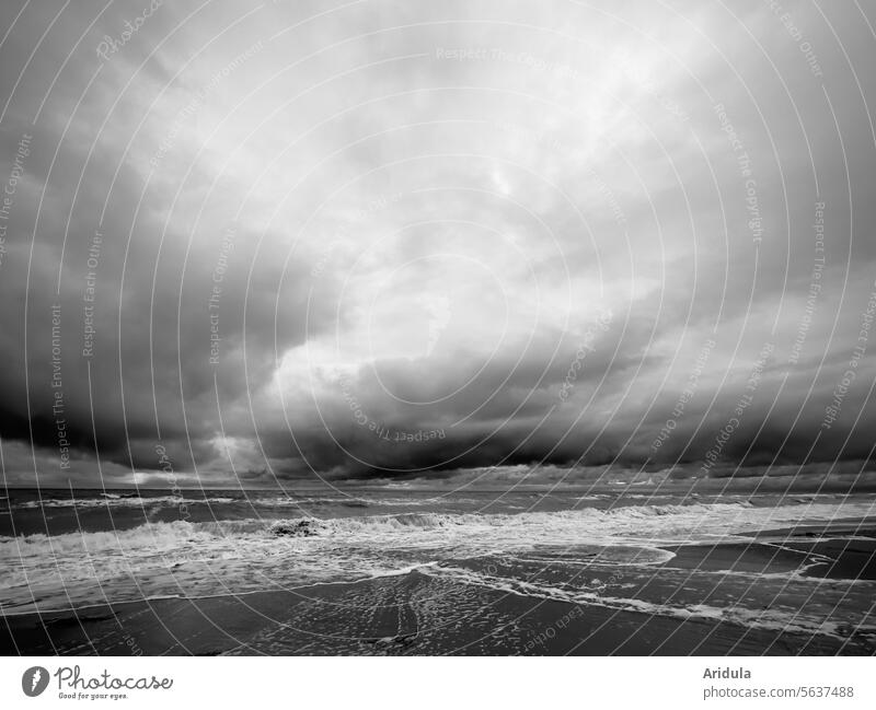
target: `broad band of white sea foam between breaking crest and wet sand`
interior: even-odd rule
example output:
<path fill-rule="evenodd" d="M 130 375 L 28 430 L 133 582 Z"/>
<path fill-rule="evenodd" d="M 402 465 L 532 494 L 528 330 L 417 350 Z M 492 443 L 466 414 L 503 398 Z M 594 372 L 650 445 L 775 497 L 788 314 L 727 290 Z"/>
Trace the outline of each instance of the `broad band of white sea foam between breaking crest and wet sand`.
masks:
<path fill-rule="evenodd" d="M 581 545 L 642 549 L 717 542 L 798 523 L 873 513 L 867 503 L 752 508 L 744 503 L 631 505 L 553 513 L 404 513 L 314 521 L 277 536 L 272 521 L 154 523 L 119 532 L 0 537 L 0 604 L 30 610 L 160 595 L 240 593 L 391 574 L 436 560 Z M 301 520 L 301 519 L 298 519 Z M 638 550 L 638 551 L 637 551 Z M 634 552 L 634 554 L 633 554 Z M 666 555 L 664 551 L 660 554 Z M 655 555 L 657 555 L 655 552 Z M 603 556 L 611 562 L 611 556 Z M 660 561 L 659 555 L 652 560 Z"/>

